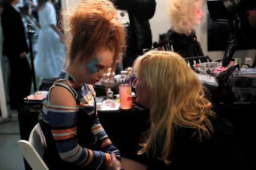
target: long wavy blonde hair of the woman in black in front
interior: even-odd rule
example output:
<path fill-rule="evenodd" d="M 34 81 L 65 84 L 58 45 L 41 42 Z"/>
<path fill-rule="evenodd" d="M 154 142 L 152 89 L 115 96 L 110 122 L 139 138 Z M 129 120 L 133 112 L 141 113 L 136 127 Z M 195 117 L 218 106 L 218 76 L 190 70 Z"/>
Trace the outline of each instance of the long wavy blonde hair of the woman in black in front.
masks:
<path fill-rule="evenodd" d="M 213 132 L 208 117 L 215 116 L 205 99 L 200 80 L 179 54 L 148 52 L 134 63 L 138 78 L 146 77 L 151 90 L 151 129 L 138 154 L 160 153 L 169 164 L 173 134 L 177 126 L 195 129 L 201 141 Z M 152 152 L 151 152 L 152 151 Z"/>

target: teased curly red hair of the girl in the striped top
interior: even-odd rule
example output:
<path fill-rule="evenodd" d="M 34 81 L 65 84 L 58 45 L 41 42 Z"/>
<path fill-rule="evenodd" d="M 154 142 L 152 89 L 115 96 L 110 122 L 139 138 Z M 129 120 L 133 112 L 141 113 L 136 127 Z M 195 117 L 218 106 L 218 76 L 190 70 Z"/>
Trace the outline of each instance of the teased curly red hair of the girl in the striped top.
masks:
<path fill-rule="evenodd" d="M 126 47 L 125 28 L 117 19 L 117 10 L 108 0 L 82 0 L 69 14 L 66 45 L 69 62 L 92 57 L 101 48 L 114 52 L 112 69 Z"/>

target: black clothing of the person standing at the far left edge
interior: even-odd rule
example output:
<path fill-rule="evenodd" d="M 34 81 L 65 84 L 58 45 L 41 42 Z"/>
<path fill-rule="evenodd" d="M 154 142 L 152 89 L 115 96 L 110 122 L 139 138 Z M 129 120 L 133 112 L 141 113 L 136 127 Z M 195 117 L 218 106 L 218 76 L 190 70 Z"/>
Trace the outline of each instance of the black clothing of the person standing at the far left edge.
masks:
<path fill-rule="evenodd" d="M 28 52 L 22 18 L 11 5 L 5 5 L 1 15 L 3 29 L 3 55 L 10 63 L 10 107 L 21 109 L 23 98 L 30 95 L 31 69 L 27 58 L 20 58 L 20 53 Z"/>

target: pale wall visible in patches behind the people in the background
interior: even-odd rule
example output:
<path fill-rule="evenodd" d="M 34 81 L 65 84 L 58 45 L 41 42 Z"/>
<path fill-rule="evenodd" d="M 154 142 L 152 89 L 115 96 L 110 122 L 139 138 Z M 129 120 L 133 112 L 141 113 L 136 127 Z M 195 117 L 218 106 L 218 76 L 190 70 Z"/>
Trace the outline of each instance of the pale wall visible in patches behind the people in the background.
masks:
<path fill-rule="evenodd" d="M 79 0 L 61 0 L 63 4 L 63 8 L 67 8 L 67 6 L 76 5 Z M 129 0 L 124 0 L 129 1 Z M 160 33 L 166 33 L 170 28 L 170 21 L 167 14 L 167 1 L 168 0 L 156 0 L 156 11 L 155 15 L 152 19 L 150 19 L 150 25 L 152 30 L 153 42 L 158 41 L 158 37 Z M 205 0 L 205 2 L 207 2 Z M 204 14 L 207 14 L 207 5 L 204 3 Z M 201 42 L 203 52 L 205 56 L 209 56 L 210 58 L 218 59 L 223 58 L 223 51 L 214 51 L 208 52 L 207 50 L 207 15 L 204 15 L 202 20 L 202 24 L 196 28 L 196 33 L 199 41 Z M 255 50 L 237 50 L 234 54 L 234 57 L 251 57 L 254 58 Z M 244 61 L 242 61 L 244 62 Z"/>

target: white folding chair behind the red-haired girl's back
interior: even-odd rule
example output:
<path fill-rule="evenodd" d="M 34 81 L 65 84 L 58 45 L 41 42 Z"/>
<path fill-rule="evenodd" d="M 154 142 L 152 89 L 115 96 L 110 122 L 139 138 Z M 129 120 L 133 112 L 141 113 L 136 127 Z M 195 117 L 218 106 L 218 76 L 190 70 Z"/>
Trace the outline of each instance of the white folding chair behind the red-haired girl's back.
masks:
<path fill-rule="evenodd" d="M 34 170 L 47 170 L 48 167 L 43 161 L 46 142 L 43 131 L 39 124 L 36 124 L 30 133 L 28 141 L 18 141 L 18 147 L 30 167 Z"/>

